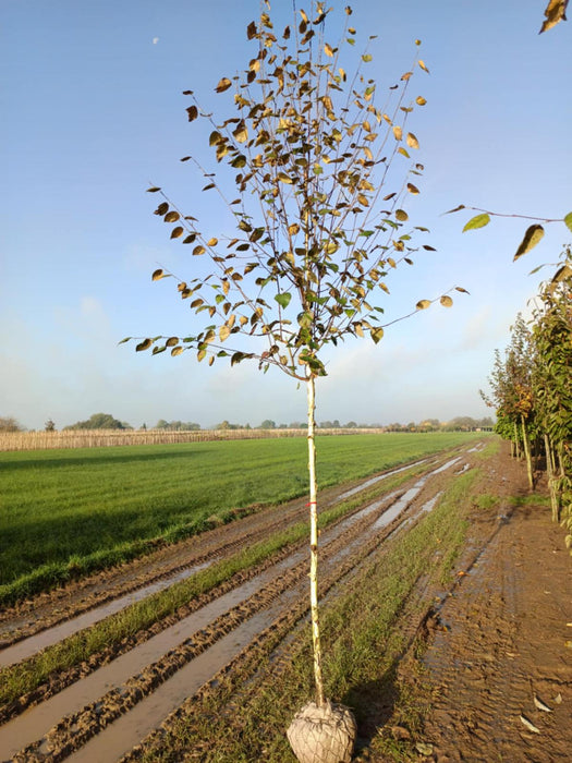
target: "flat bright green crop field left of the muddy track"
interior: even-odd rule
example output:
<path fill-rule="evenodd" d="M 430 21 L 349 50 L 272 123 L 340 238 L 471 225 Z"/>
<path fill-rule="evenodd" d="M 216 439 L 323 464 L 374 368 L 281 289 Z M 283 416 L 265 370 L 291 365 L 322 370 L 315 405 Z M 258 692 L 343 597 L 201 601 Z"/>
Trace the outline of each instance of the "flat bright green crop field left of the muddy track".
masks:
<path fill-rule="evenodd" d="M 320 437 L 319 485 L 471 437 Z M 229 521 L 235 509 L 302 496 L 306 463 L 304 437 L 0 453 L 0 604 L 200 532 L 212 517 Z"/>

